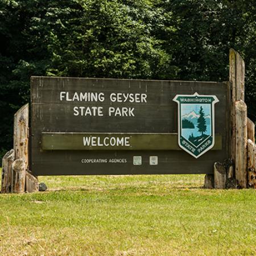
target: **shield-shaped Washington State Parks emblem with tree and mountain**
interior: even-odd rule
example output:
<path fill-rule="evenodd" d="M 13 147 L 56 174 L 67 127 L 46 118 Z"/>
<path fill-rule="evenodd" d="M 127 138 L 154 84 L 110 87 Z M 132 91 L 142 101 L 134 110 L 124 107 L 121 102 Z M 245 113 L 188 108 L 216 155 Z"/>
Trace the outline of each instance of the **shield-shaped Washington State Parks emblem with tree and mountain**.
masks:
<path fill-rule="evenodd" d="M 199 158 L 214 146 L 213 95 L 176 95 L 178 104 L 178 143 L 183 150 Z"/>

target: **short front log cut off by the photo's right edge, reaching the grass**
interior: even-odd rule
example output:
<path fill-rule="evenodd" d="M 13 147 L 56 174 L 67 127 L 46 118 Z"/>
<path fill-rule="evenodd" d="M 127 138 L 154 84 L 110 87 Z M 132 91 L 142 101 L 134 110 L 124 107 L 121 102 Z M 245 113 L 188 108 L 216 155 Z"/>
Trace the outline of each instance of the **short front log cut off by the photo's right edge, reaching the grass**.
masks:
<path fill-rule="evenodd" d="M 256 146 L 253 141 L 248 139 L 247 141 L 247 175 L 248 175 L 248 186 L 256 188 L 256 163 L 255 163 L 255 150 Z"/>

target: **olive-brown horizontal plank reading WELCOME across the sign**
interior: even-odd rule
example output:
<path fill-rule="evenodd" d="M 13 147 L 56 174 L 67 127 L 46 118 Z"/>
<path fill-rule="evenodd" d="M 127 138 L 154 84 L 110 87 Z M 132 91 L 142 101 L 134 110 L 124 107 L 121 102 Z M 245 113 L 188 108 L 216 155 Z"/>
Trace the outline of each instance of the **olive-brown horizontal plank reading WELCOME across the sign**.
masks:
<path fill-rule="evenodd" d="M 181 150 L 176 133 L 42 133 L 42 150 Z M 221 150 L 216 135 L 212 150 Z"/>

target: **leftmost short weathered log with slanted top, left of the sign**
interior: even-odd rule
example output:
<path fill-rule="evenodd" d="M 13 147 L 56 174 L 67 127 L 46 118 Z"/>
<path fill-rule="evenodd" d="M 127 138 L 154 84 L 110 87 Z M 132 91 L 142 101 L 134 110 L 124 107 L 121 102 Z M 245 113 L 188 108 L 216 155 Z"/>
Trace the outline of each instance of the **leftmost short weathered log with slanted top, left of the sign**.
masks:
<path fill-rule="evenodd" d="M 2 182 L 1 193 L 11 192 L 12 164 L 14 161 L 14 150 L 8 151 L 2 159 Z"/>

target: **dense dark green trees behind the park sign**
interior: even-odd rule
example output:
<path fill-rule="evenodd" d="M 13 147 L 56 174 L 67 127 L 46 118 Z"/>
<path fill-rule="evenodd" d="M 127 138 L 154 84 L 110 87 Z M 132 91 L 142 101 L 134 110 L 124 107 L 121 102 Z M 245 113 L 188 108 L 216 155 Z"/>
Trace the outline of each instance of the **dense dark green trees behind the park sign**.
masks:
<path fill-rule="evenodd" d="M 255 0 L 0 0 L 0 156 L 30 76 L 229 80 L 229 49 L 246 63 L 256 121 Z"/>

